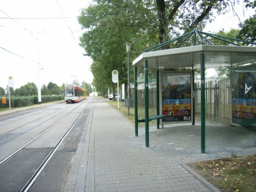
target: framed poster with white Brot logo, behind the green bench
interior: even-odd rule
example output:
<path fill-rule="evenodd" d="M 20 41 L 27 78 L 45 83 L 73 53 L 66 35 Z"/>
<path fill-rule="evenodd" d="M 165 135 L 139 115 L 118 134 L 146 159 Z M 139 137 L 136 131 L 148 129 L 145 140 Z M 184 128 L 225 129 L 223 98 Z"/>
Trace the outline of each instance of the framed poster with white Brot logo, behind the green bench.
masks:
<path fill-rule="evenodd" d="M 162 72 L 161 84 L 162 123 L 192 121 L 191 73 Z"/>

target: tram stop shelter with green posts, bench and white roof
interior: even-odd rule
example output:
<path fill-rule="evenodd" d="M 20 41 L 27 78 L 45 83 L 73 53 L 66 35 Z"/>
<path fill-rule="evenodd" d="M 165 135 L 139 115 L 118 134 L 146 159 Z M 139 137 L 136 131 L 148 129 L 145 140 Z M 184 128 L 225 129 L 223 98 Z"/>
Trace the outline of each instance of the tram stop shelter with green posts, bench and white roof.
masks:
<path fill-rule="evenodd" d="M 184 43 L 184 41 L 186 41 L 189 37 L 192 37 L 192 39 L 194 39 L 193 46 L 179 48 L 179 46 Z M 213 45 L 209 38 L 215 38 L 232 45 Z M 180 43 L 177 43 L 178 41 Z M 241 46 L 237 44 L 237 42 L 250 44 L 251 46 Z M 163 49 L 163 47 L 170 44 L 175 44 L 176 46 L 172 49 L 161 50 Z M 256 43 L 194 30 L 190 33 L 184 34 L 183 36 L 177 37 L 175 39 L 145 50 L 144 53 L 142 53 L 132 62 L 132 65 L 134 66 L 135 136 L 138 136 L 138 122 L 145 122 L 145 142 L 146 147 L 149 147 L 149 121 L 152 119 L 157 119 L 157 126 L 159 128 L 159 119 L 164 117 L 163 114 L 160 114 L 159 110 L 159 93 L 161 90 L 159 83 L 159 71 L 170 69 L 187 69 L 193 71 L 194 69 L 200 69 L 201 153 L 205 153 L 205 69 L 218 67 L 232 68 L 238 65 L 255 63 L 256 47 L 254 47 L 253 45 L 256 45 Z M 143 118 L 142 120 L 138 119 L 137 67 L 144 68 L 145 118 Z M 157 115 L 154 117 L 149 117 L 148 113 L 148 68 L 156 69 Z M 192 74 L 194 79 L 194 73 Z M 194 99 L 194 96 L 192 97 Z M 194 107 L 192 106 L 192 110 L 193 108 Z M 193 117 L 192 124 L 194 123 L 195 119 Z"/>

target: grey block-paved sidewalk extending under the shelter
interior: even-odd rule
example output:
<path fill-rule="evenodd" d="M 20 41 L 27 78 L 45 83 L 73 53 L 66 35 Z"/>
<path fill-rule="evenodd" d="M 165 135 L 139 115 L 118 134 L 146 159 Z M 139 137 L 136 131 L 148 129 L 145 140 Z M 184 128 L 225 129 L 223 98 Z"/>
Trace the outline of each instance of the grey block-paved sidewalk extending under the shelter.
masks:
<path fill-rule="evenodd" d="M 80 140 L 66 192 L 218 191 L 184 164 L 231 156 L 232 152 L 256 153 L 255 132 L 216 124 L 206 125 L 207 154 L 200 152 L 199 125 L 153 127 L 150 148 L 145 148 L 145 129 L 139 128 L 139 137 L 134 137 L 134 125 L 107 102 L 99 101 L 87 120 L 87 133 Z"/>

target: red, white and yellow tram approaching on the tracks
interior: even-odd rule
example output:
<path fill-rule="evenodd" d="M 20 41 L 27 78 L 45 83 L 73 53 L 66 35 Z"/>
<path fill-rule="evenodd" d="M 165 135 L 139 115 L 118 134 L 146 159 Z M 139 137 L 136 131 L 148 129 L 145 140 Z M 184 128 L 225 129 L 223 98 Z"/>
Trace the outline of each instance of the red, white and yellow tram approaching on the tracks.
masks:
<path fill-rule="evenodd" d="M 76 103 L 86 99 L 86 89 L 78 85 L 65 85 L 65 102 Z"/>

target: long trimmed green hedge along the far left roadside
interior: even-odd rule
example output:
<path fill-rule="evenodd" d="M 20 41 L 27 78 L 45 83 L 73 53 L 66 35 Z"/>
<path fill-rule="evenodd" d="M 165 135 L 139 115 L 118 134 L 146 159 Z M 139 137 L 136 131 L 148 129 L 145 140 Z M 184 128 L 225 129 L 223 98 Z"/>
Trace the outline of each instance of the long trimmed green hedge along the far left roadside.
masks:
<path fill-rule="evenodd" d="M 41 103 L 64 100 L 63 95 L 42 95 Z M 14 107 L 26 107 L 30 105 L 38 104 L 38 96 L 29 97 L 11 97 L 11 108 Z M 0 98 L 0 105 L 3 108 L 9 108 L 9 100 L 6 98 L 6 104 L 2 105 L 2 98 Z"/>

